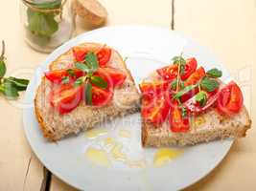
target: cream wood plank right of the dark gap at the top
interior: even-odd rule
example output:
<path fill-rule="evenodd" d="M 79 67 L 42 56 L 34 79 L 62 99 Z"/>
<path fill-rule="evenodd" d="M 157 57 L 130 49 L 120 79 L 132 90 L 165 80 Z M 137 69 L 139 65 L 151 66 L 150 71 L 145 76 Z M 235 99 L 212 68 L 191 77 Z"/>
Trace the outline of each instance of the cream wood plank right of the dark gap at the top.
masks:
<path fill-rule="evenodd" d="M 187 33 L 221 57 L 244 91 L 245 105 L 256 117 L 256 6 L 254 0 L 175 1 L 175 30 Z M 256 186 L 256 130 L 234 143 L 209 176 L 186 190 L 253 190 Z"/>

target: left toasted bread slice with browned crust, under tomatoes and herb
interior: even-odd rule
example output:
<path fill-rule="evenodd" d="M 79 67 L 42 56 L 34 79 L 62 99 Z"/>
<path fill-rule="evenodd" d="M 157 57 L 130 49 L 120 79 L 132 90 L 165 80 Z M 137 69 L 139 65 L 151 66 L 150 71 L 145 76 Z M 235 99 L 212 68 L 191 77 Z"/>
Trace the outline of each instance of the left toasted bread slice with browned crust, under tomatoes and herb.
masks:
<path fill-rule="evenodd" d="M 99 50 L 102 46 L 96 43 L 79 45 L 89 51 Z M 73 53 L 69 50 L 52 62 L 49 68 L 50 70 L 64 69 L 73 63 Z M 35 95 L 35 116 L 45 138 L 55 141 L 70 134 L 78 134 L 81 130 L 90 129 L 113 117 L 124 116 L 139 110 L 140 95 L 134 80 L 121 55 L 114 50 L 112 50 L 109 65 L 127 74 L 124 84 L 114 90 L 113 99 L 103 107 L 88 106 L 81 102 L 75 110 L 65 115 L 59 115 L 50 105 L 48 95 L 51 82 L 42 77 Z"/>

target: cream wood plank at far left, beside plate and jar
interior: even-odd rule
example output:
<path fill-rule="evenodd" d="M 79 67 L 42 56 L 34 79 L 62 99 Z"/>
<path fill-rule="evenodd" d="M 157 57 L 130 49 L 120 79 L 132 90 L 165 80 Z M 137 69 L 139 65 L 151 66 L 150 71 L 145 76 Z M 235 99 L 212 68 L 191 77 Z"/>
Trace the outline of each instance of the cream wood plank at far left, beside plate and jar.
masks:
<path fill-rule="evenodd" d="M 25 44 L 18 3 L 8 1 L 0 7 L 0 40 L 6 42 L 8 75 L 31 76 L 46 54 L 35 53 Z M 43 178 L 42 165 L 24 135 L 21 102 L 22 98 L 8 101 L 0 96 L 0 190 L 39 190 Z"/>

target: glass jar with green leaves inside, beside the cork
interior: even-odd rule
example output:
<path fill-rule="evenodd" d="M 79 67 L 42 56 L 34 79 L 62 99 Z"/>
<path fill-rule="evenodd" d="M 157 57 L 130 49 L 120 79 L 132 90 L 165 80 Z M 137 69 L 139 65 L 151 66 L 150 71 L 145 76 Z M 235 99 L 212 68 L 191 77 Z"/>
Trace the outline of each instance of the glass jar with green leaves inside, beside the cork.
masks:
<path fill-rule="evenodd" d="M 69 0 L 20 0 L 26 42 L 36 51 L 51 53 L 72 37 L 75 16 Z"/>

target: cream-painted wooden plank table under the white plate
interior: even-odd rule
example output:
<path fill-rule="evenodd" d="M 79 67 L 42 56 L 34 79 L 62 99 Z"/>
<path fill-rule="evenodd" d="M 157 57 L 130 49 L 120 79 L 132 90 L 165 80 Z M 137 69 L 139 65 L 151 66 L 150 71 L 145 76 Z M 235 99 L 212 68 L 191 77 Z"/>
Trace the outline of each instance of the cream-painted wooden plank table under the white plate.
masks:
<path fill-rule="evenodd" d="M 107 2 L 107 3 L 106 3 Z M 146 24 L 185 32 L 219 55 L 241 84 L 252 119 L 256 117 L 256 0 L 102 0 L 107 26 Z M 7 44 L 8 74 L 32 75 L 47 54 L 23 40 L 18 0 L 2 2 L 0 38 Z M 77 32 L 87 31 L 78 21 Z M 18 101 L 0 97 L 0 190 L 76 190 L 50 176 L 25 138 Z M 186 190 L 255 190 L 256 130 L 236 141 L 221 164 Z M 44 173 L 46 172 L 46 173 Z M 168 182 L 167 182 L 168 183 Z"/>

